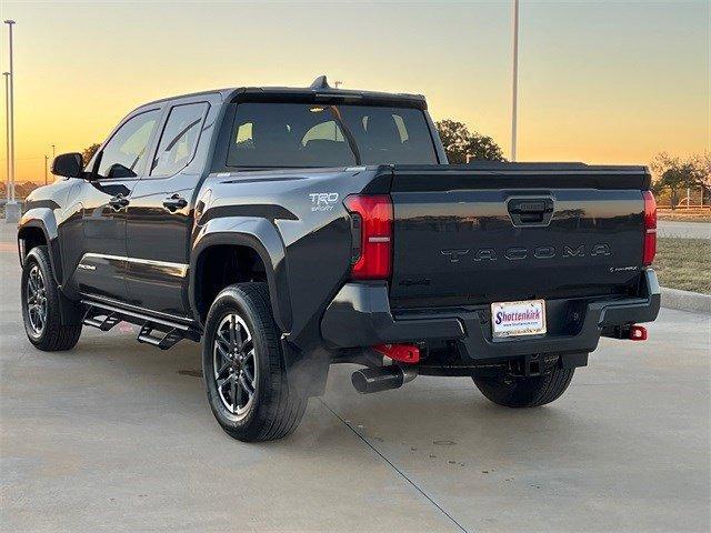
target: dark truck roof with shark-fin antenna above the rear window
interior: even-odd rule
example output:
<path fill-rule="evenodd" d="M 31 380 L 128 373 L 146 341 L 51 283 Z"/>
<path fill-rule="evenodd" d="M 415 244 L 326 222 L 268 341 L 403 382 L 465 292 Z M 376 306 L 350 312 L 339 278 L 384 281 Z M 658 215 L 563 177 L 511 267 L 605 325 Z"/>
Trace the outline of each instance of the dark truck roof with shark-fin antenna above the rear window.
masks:
<path fill-rule="evenodd" d="M 179 94 L 152 102 L 144 103 L 151 105 L 154 103 L 178 100 L 188 97 L 198 97 L 200 94 L 219 93 L 226 102 L 238 102 L 240 100 L 293 100 L 293 101 L 339 101 L 346 103 L 370 103 L 370 104 L 400 104 L 427 109 L 427 101 L 422 94 L 409 93 L 391 93 L 378 91 L 363 91 L 359 89 L 338 89 L 328 84 L 326 76 L 317 78 L 310 87 L 232 87 L 226 89 L 214 89 L 211 91 L 199 91 L 188 94 Z"/>

